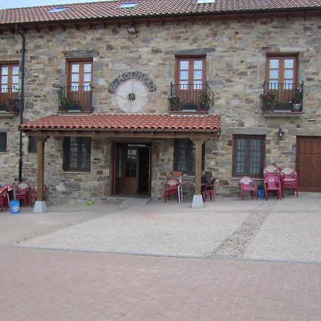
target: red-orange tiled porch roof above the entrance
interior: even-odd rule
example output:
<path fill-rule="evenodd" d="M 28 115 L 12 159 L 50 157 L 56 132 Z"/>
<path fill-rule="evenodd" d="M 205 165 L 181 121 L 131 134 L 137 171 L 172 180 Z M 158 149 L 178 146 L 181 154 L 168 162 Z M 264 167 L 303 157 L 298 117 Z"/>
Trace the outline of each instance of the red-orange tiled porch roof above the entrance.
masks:
<path fill-rule="evenodd" d="M 51 115 L 19 126 L 22 131 L 218 131 L 219 115 L 113 113 Z"/>

